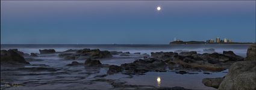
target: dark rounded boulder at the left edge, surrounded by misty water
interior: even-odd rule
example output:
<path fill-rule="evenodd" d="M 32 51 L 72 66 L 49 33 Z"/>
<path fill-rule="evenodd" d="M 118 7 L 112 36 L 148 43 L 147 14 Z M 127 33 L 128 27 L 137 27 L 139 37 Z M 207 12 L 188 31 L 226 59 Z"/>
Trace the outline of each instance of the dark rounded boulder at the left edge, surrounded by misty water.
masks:
<path fill-rule="evenodd" d="M 1 50 L 1 64 L 30 64 L 16 50 Z"/>

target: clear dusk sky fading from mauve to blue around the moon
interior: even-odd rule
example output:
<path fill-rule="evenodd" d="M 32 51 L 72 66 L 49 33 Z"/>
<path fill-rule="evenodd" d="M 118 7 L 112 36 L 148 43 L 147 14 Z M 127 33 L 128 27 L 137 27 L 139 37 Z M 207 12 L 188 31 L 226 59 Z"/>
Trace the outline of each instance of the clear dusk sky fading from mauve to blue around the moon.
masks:
<path fill-rule="evenodd" d="M 255 24 L 255 1 L 1 1 L 1 44 L 255 42 Z"/>

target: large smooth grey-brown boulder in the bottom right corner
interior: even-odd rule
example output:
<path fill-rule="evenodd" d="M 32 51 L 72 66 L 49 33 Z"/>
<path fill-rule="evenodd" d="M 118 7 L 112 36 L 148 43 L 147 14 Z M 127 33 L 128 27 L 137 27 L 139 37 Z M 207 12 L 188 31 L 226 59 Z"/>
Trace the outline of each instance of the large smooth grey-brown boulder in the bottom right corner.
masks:
<path fill-rule="evenodd" d="M 256 89 L 256 61 L 239 61 L 231 65 L 218 89 Z"/>

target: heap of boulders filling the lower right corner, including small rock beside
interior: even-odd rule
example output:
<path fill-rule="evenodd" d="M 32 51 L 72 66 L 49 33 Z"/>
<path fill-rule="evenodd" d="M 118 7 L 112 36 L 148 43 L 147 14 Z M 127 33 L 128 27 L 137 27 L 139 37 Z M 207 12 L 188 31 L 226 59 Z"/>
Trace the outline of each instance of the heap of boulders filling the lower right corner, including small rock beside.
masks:
<path fill-rule="evenodd" d="M 225 77 L 203 79 L 205 86 L 217 89 L 256 89 L 256 44 L 252 44 L 245 61 L 235 62 Z"/>

